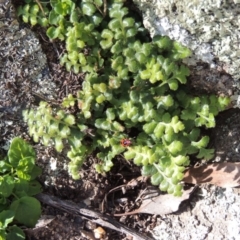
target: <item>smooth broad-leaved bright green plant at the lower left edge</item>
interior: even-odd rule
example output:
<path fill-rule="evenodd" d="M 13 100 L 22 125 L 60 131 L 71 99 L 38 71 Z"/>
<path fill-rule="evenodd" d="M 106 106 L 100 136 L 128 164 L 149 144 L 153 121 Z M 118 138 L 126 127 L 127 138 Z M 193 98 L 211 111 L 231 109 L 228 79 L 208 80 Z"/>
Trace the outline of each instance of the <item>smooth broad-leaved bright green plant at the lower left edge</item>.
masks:
<path fill-rule="evenodd" d="M 41 192 L 36 177 L 33 148 L 21 138 L 14 138 L 5 159 L 0 160 L 0 239 L 25 239 L 17 225 L 34 227 L 41 205 L 33 196 Z"/>

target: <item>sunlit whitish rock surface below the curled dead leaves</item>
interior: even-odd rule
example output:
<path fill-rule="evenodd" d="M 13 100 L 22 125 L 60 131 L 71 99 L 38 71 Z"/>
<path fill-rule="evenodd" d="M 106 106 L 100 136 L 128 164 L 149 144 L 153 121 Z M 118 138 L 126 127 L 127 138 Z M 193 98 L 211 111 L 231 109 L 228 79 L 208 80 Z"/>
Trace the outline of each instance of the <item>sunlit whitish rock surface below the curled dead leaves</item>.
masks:
<path fill-rule="evenodd" d="M 240 234 L 239 193 L 232 188 L 202 186 L 187 210 L 157 221 L 156 240 L 238 239 Z M 197 202 L 196 202 L 196 199 Z"/>

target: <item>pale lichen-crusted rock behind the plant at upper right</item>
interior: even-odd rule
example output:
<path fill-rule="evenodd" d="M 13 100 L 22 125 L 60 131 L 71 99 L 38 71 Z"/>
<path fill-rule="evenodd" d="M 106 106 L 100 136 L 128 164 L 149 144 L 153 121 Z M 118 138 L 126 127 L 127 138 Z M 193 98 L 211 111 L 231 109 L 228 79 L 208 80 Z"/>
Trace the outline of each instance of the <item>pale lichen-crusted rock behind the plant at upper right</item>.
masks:
<path fill-rule="evenodd" d="M 167 35 L 189 47 L 198 60 L 215 67 L 218 59 L 240 79 L 240 2 L 238 0 L 134 0 L 151 36 Z"/>

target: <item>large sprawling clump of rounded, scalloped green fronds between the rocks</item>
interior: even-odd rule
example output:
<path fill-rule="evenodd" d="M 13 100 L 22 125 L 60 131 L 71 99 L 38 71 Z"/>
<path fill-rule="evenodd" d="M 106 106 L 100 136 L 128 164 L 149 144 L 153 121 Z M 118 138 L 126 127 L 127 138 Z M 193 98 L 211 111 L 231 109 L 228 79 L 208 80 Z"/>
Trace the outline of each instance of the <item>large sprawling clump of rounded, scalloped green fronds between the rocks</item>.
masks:
<path fill-rule="evenodd" d="M 150 41 L 123 2 L 50 1 L 47 34 L 66 41 L 61 62 L 85 72 L 85 80 L 61 110 L 41 103 L 25 111 L 24 119 L 35 141 L 53 142 L 58 151 L 65 142 L 70 145 L 69 172 L 75 179 L 90 154 L 101 160 L 96 169 L 102 173 L 124 153 L 161 190 L 180 195 L 189 155 L 213 156 L 200 127 L 214 127 L 229 99 L 191 96 L 184 86 L 189 70 L 181 64 L 190 51 L 168 37 Z M 67 110 L 73 106 L 79 108 L 74 116 Z M 124 147 L 122 139 L 132 144 Z"/>

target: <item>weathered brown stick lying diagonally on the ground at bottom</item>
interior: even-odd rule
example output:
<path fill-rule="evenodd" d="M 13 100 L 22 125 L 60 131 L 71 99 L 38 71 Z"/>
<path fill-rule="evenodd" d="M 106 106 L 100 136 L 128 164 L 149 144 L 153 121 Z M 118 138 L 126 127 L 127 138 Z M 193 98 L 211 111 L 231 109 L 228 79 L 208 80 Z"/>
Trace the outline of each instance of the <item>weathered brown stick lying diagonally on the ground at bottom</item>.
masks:
<path fill-rule="evenodd" d="M 107 228 L 111 228 L 121 233 L 132 235 L 136 239 L 152 240 L 152 238 L 144 236 L 143 234 L 139 234 L 137 231 L 124 226 L 110 216 L 89 209 L 84 203 L 76 204 L 71 201 L 63 201 L 57 197 L 42 193 L 38 194 L 36 197 L 42 203 L 61 209 L 73 215 L 82 215 L 84 218 L 89 219 L 92 222 L 95 222 Z"/>

